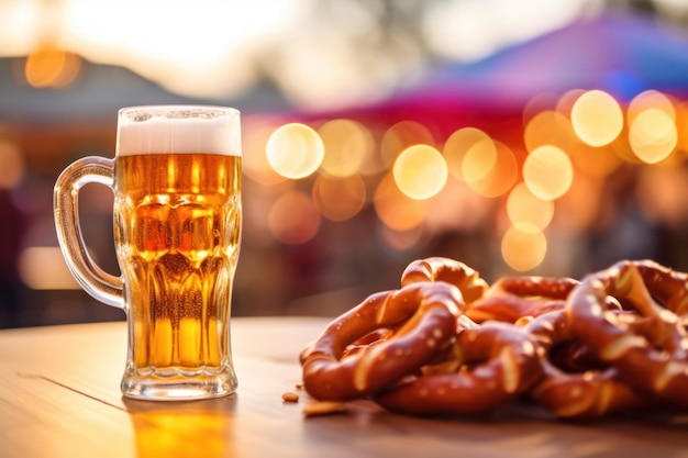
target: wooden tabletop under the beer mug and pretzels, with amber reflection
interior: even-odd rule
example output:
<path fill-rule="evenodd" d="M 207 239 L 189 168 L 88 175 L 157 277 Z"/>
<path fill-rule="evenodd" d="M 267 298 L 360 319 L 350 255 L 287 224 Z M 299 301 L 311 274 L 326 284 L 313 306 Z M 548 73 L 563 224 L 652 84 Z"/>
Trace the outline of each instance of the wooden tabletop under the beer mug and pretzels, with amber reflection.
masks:
<path fill-rule="evenodd" d="M 324 319 L 232 323 L 240 389 L 197 402 L 144 402 L 119 391 L 125 324 L 0 332 L 0 457 L 688 457 L 688 422 L 556 422 L 504 411 L 490 418 L 418 418 L 367 401 L 304 417 L 284 403 L 297 355 Z"/>

